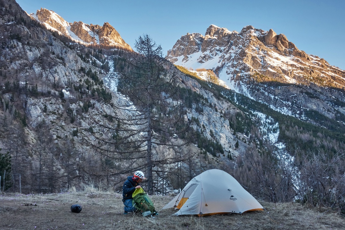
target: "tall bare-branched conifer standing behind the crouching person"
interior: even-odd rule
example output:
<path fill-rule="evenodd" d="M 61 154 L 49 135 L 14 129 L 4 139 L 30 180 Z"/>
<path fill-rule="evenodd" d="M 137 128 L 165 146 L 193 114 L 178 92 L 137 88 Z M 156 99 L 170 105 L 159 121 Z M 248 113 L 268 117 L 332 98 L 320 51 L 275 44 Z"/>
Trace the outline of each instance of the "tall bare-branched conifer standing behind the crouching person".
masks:
<path fill-rule="evenodd" d="M 147 178 L 146 192 L 154 191 L 153 172 L 160 165 L 184 160 L 186 153 L 180 151 L 189 138 L 189 124 L 184 121 L 186 111 L 178 98 L 177 75 L 172 65 L 162 57 L 162 48 L 148 36 L 140 36 L 135 43 L 136 53 L 127 57 L 127 68 L 120 73 L 118 90 L 129 97 L 130 103 L 115 105 L 105 102 L 113 113 L 104 111 L 109 121 L 117 125 L 105 127 L 98 124 L 111 137 L 94 137 L 94 147 L 102 157 L 111 159 L 126 168 L 117 173 L 142 170 Z M 118 110 L 126 111 L 126 117 L 117 117 Z M 187 133 L 187 134 L 186 134 Z M 187 141 L 172 142 L 173 137 L 182 136 Z M 167 146 L 171 154 L 157 150 Z M 122 162 L 122 163 L 120 163 Z M 128 165 L 131 164 L 131 165 Z"/>

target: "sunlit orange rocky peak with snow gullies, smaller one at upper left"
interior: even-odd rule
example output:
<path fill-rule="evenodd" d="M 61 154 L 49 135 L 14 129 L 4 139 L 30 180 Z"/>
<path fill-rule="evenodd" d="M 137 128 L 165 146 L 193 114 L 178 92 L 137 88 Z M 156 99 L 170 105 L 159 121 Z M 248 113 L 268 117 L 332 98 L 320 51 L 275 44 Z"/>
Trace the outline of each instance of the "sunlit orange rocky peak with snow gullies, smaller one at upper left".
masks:
<path fill-rule="evenodd" d="M 108 22 L 103 26 L 79 22 L 67 22 L 52 10 L 41 8 L 30 17 L 42 23 L 47 29 L 70 37 L 84 44 L 98 44 L 106 46 L 121 46 L 131 50 L 131 47 L 121 38 L 120 34 Z"/>

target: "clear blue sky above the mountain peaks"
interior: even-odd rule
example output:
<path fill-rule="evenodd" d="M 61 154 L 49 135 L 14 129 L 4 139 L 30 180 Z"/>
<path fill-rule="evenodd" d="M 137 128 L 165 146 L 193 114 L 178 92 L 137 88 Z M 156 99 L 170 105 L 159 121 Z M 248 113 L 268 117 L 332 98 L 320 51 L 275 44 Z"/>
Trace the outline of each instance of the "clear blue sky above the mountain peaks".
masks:
<path fill-rule="evenodd" d="M 46 8 L 68 22 L 109 22 L 131 46 L 147 33 L 164 51 L 183 35 L 205 35 L 209 25 L 240 31 L 247 25 L 284 33 L 307 54 L 345 69 L 345 1 L 17 0 L 28 13 Z"/>

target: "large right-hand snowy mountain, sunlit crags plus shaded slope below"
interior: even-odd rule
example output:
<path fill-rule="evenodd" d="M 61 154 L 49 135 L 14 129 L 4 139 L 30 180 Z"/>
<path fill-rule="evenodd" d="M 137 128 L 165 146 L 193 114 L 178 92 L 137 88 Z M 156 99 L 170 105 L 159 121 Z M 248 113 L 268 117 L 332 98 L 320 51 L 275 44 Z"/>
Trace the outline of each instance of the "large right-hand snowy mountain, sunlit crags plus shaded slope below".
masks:
<path fill-rule="evenodd" d="M 344 102 L 345 71 L 272 29 L 237 32 L 211 25 L 205 36 L 182 36 L 167 58 L 186 68 L 213 69 L 229 88 L 285 114 L 303 118 L 303 111 L 316 110 L 334 118 L 335 110 L 345 111 L 336 103 Z"/>

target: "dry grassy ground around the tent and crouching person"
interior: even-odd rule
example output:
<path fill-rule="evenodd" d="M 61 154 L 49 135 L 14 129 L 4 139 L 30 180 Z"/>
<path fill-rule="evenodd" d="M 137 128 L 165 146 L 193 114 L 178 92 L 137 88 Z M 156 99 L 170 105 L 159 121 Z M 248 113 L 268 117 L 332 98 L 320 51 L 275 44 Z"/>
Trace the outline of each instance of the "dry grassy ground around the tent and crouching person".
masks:
<path fill-rule="evenodd" d="M 90 190 L 91 191 L 91 190 Z M 157 210 L 173 197 L 152 196 Z M 309 210 L 296 203 L 260 203 L 265 211 L 210 217 L 173 216 L 162 210 L 155 218 L 123 213 L 121 194 L 112 192 L 70 192 L 63 194 L 2 194 L 1 230 L 53 229 L 345 229 L 345 219 L 330 210 Z M 80 204 L 82 211 L 72 213 L 70 206 Z"/>

